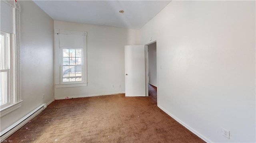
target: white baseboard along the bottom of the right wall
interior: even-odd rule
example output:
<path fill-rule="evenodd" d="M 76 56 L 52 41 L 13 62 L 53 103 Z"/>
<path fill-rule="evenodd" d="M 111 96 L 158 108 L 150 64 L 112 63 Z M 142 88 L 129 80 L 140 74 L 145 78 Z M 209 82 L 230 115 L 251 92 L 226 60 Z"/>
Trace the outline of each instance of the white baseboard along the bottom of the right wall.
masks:
<path fill-rule="evenodd" d="M 162 108 L 161 106 L 157 105 L 161 110 L 163 110 L 164 112 L 166 112 L 169 116 L 171 116 L 173 119 L 175 119 L 176 121 L 178 121 L 180 124 L 182 124 L 184 127 L 186 127 L 188 130 L 190 130 L 192 133 L 194 133 L 195 135 L 197 135 L 198 137 L 200 137 L 202 140 L 204 140 L 206 143 L 213 143 L 210 139 L 204 137 L 202 134 L 198 133 L 196 130 L 194 130 L 192 127 L 190 127 L 189 125 L 187 125 L 186 123 L 184 123 L 183 121 L 181 121 L 179 118 L 176 118 L 176 116 L 172 115 L 170 112 L 168 112 L 167 110 L 165 110 L 164 108 Z"/>

